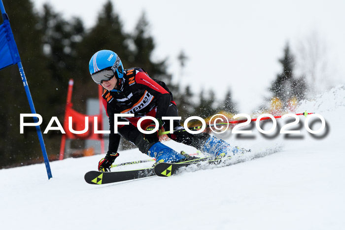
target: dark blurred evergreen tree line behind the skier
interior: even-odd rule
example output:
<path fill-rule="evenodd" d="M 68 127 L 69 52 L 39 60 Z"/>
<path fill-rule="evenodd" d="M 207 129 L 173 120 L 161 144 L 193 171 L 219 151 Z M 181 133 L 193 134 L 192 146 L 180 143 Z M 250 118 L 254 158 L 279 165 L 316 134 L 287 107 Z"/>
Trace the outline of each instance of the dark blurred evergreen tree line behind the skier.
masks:
<path fill-rule="evenodd" d="M 172 74 L 167 72 L 167 59 L 153 62 L 155 48 L 149 34 L 149 22 L 143 13 L 131 33 L 123 30 L 120 15 L 107 1 L 98 15 L 95 26 L 86 29 L 80 18 L 66 20 L 49 4 L 35 11 L 30 0 L 4 2 L 10 19 L 21 61 L 28 79 L 36 112 L 43 117 L 42 132 L 53 116 L 62 123 L 65 113 L 68 81 L 74 79 L 73 108 L 85 113 L 86 100 L 97 98 L 97 87 L 91 80 L 88 63 L 101 49 L 111 49 L 121 58 L 125 68 L 143 67 L 152 78 L 163 80 L 172 89 L 183 119 L 198 113 L 207 117 L 218 109 L 232 111 L 228 93 L 224 108 L 215 108 L 212 91 L 200 95 L 195 104 L 191 87 L 183 90 L 172 84 Z M 30 108 L 17 66 L 0 71 L 0 168 L 42 162 L 42 154 L 35 127 L 19 131 L 19 116 L 30 113 Z M 25 120 L 32 122 L 32 119 Z M 58 157 L 61 133 L 43 134 L 48 157 Z M 83 148 L 82 142 L 79 146 Z"/>

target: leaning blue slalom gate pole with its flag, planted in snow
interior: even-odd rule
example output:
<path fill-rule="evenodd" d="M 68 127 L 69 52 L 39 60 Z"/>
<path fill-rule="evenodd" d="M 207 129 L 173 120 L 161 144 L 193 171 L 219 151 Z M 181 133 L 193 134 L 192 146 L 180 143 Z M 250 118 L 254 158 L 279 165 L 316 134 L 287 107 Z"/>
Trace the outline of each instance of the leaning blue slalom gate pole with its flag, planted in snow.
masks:
<path fill-rule="evenodd" d="M 3 30 L 1 29 L 1 32 L 3 32 L 4 35 L 3 36 L 1 35 L 0 38 L 5 38 L 5 39 L 2 39 L 4 41 L 1 44 L 3 44 L 3 46 L 4 46 L 4 50 L 5 50 L 4 55 L 8 56 L 8 59 L 10 59 L 10 61 L 4 61 L 4 63 L 0 67 L 0 69 L 5 68 L 7 66 L 14 65 L 14 64 L 18 65 L 20 76 L 22 77 L 22 82 L 24 85 L 25 93 L 26 93 L 27 98 L 29 100 L 31 113 L 36 114 L 34 101 L 33 101 L 33 98 L 31 97 L 28 82 L 27 82 L 27 79 L 26 79 L 26 76 L 24 73 L 22 62 L 21 62 L 20 57 L 19 57 L 18 48 L 17 48 L 17 45 L 15 43 L 14 36 L 13 36 L 12 30 L 11 30 L 11 27 L 9 25 L 8 16 L 5 12 L 5 8 L 3 6 L 2 0 L 0 0 L 0 10 L 1 10 L 2 19 L 3 19 L 3 25 L 1 25 L 1 26 L 3 26 L 3 28 L 4 28 Z M 7 52 L 7 50 L 8 50 L 8 52 Z M 38 123 L 37 117 L 34 116 L 33 118 L 34 118 L 34 122 Z M 36 126 L 36 131 L 37 131 L 39 144 L 41 146 L 41 150 L 42 150 L 42 154 L 43 154 L 44 164 L 45 164 L 45 167 L 47 169 L 48 179 L 50 179 L 50 178 L 52 178 L 52 173 L 50 170 L 50 164 L 49 164 L 49 159 L 47 156 L 47 151 L 45 149 L 45 145 L 44 145 L 44 141 L 43 141 L 42 131 L 41 131 L 39 126 Z"/>

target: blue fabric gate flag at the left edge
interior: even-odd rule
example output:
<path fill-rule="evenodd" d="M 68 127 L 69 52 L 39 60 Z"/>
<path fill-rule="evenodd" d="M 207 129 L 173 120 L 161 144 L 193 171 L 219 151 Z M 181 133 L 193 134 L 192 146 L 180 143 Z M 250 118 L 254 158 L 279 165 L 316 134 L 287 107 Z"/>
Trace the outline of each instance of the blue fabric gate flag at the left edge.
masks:
<path fill-rule="evenodd" d="M 8 20 L 0 25 L 0 70 L 20 62 L 18 49 Z"/>

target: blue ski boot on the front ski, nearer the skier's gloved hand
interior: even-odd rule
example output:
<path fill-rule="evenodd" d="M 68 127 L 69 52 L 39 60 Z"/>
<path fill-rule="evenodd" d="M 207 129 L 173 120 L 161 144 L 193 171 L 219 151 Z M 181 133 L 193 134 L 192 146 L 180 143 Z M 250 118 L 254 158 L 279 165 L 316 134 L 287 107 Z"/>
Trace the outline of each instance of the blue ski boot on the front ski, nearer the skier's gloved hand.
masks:
<path fill-rule="evenodd" d="M 151 148 L 147 151 L 147 155 L 156 158 L 156 164 L 161 162 L 177 163 L 186 159 L 184 155 L 179 154 L 178 152 L 162 144 L 161 142 L 157 142 L 152 145 Z"/>

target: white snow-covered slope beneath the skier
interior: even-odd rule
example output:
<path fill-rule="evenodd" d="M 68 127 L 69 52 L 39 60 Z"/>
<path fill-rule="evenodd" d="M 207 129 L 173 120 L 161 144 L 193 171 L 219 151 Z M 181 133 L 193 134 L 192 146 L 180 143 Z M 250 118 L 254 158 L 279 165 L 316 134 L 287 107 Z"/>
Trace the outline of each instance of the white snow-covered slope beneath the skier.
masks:
<path fill-rule="evenodd" d="M 83 177 L 101 156 L 52 162 L 51 180 L 43 164 L 2 169 L 0 229 L 345 229 L 345 87 L 305 101 L 300 110 L 321 114 L 326 131 L 313 137 L 302 126 L 289 138 L 230 135 L 229 142 L 253 151 L 280 151 L 228 167 L 100 186 Z M 117 162 L 138 159 L 147 157 L 135 149 Z"/>

